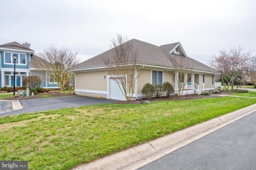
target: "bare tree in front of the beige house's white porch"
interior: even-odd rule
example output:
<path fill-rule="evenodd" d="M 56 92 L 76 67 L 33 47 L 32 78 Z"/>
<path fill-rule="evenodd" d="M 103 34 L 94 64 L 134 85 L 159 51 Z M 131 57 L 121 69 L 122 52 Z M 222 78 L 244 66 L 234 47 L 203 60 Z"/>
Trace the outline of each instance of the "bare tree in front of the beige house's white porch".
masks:
<path fill-rule="evenodd" d="M 178 87 L 177 95 L 180 97 L 185 90 L 188 79 L 192 75 L 192 63 L 188 61 L 188 58 L 182 56 L 170 56 L 171 62 L 173 63 L 174 72 L 179 73 L 178 76 L 174 77 L 175 86 Z"/>

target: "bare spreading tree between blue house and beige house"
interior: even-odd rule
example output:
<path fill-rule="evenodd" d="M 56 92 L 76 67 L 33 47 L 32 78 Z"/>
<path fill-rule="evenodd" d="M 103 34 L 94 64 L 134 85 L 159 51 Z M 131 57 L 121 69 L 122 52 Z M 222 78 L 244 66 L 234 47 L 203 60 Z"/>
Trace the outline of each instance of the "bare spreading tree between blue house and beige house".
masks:
<path fill-rule="evenodd" d="M 79 63 L 77 52 L 74 53 L 68 48 L 57 49 L 51 45 L 39 53 L 39 57 L 36 63 L 37 69 L 45 71 L 49 79 L 54 80 L 54 84 L 64 93 L 64 85 L 72 74 L 68 69 Z"/>

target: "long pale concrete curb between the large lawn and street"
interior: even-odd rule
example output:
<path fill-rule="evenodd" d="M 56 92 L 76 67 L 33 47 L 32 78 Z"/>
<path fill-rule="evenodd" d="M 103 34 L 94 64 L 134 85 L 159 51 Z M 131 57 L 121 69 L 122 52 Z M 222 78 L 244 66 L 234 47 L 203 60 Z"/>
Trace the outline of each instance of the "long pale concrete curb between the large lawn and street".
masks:
<path fill-rule="evenodd" d="M 243 109 L 224 114 L 201 124 L 187 127 L 181 131 L 171 133 L 154 141 L 140 144 L 122 152 L 106 156 L 91 163 L 76 167 L 81 169 L 138 169 L 186 144 L 192 143 L 201 137 L 220 129 L 252 112 L 256 111 L 256 104 Z"/>

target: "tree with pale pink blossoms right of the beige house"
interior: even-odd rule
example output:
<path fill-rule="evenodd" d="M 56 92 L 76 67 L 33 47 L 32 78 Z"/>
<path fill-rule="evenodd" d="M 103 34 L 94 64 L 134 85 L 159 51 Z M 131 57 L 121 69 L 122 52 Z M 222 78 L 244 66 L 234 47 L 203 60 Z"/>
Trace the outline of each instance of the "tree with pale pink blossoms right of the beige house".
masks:
<path fill-rule="evenodd" d="M 213 56 L 209 61 L 211 67 L 221 73 L 221 78 L 228 82 L 227 90 L 231 85 L 233 90 L 234 81 L 249 81 L 251 71 L 251 60 L 254 58 L 253 52 L 247 52 L 244 48 L 230 48 L 230 50 L 219 51 L 219 56 Z"/>

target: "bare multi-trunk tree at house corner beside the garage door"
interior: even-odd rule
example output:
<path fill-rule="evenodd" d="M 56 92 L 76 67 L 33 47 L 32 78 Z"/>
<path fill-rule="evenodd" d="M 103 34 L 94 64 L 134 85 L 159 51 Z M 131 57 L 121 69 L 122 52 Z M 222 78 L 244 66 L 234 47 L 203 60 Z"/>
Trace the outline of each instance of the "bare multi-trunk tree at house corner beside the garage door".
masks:
<path fill-rule="evenodd" d="M 127 37 L 117 34 L 116 39 L 112 39 L 110 45 L 112 56 L 111 58 L 105 58 L 104 63 L 125 99 L 131 101 L 135 92 L 135 81 L 139 77 L 136 67 L 139 52 L 128 41 Z"/>

